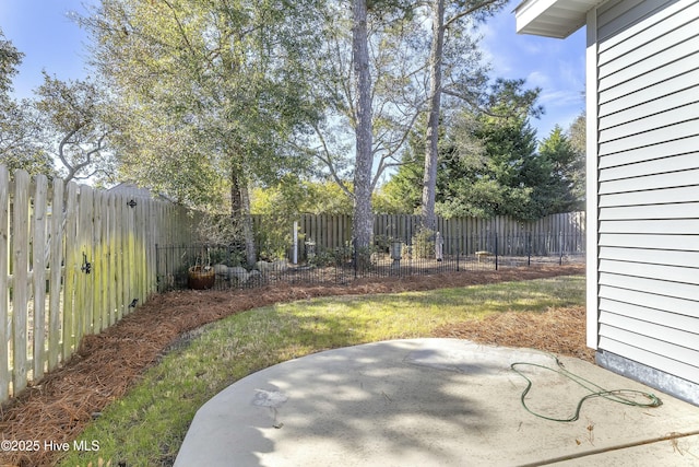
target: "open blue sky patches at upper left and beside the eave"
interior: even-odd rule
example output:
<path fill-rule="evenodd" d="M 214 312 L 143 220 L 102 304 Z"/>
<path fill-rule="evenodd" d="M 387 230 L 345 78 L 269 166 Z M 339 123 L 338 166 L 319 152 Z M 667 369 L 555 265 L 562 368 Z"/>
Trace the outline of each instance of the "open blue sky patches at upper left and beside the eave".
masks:
<path fill-rule="evenodd" d="M 517 35 L 514 14 L 519 0 L 481 27 L 483 48 L 493 73 L 502 78 L 525 78 L 529 86 L 542 89 L 540 103 L 546 114 L 532 120 L 538 138 L 555 125 L 567 129 L 584 108 L 584 28 L 560 40 Z M 42 70 L 61 80 L 87 74 L 87 38 L 68 17 L 69 11 L 85 12 L 93 0 L 1 0 L 0 27 L 25 54 L 14 80 L 16 97 L 29 97 L 42 83 Z"/>

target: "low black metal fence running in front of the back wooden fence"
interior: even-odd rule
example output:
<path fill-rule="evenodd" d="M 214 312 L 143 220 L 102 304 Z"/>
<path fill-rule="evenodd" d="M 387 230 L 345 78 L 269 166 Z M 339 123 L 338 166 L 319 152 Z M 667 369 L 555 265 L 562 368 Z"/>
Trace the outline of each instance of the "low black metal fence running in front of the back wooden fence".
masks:
<path fill-rule="evenodd" d="M 363 278 L 407 277 L 503 267 L 584 262 L 584 235 L 433 235 L 378 240 L 366 250 L 352 246 L 298 245 L 286 258 L 245 264 L 238 246 L 156 245 L 158 291 L 256 288 L 274 283 L 348 283 Z M 294 259 L 296 262 L 293 262 Z"/>

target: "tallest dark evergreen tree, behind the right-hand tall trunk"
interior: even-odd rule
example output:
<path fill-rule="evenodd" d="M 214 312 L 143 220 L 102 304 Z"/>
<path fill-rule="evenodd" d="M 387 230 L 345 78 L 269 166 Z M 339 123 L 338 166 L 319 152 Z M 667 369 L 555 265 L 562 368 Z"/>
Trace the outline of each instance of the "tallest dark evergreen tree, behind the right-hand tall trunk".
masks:
<path fill-rule="evenodd" d="M 540 112 L 536 91 L 522 81 L 496 81 L 483 103 L 462 106 L 440 126 L 436 213 L 443 217 L 535 215 L 531 194 L 535 175 L 545 168 L 535 154 L 529 116 Z M 394 177 L 382 187 L 414 212 L 424 194 L 422 156 L 426 141 L 417 131 Z M 529 177 L 529 178 L 528 178 Z"/>

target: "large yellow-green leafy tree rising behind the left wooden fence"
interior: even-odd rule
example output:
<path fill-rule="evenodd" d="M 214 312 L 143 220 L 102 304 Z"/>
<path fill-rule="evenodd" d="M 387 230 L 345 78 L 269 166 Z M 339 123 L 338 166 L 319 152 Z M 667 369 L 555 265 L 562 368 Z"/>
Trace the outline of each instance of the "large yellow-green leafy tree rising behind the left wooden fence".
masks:
<path fill-rule="evenodd" d="M 104 0 L 81 20 L 94 35 L 96 65 L 122 100 L 115 137 L 128 154 L 122 174 L 146 185 L 153 176 L 167 192 L 209 206 L 221 206 L 227 190 L 249 264 L 250 187 L 297 170 L 300 157 L 287 142 L 316 118 L 305 61 L 317 47 L 315 7 Z"/>

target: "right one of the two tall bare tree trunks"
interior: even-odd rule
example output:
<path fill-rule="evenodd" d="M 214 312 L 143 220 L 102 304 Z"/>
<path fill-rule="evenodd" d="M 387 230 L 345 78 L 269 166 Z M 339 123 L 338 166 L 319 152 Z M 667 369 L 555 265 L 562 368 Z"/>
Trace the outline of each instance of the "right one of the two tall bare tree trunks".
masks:
<path fill-rule="evenodd" d="M 429 108 L 425 135 L 425 172 L 423 176 L 423 227 L 435 230 L 437 217 L 437 163 L 439 155 L 439 115 L 441 110 L 441 56 L 445 47 L 445 0 L 433 0 L 433 42 L 429 51 Z"/>

